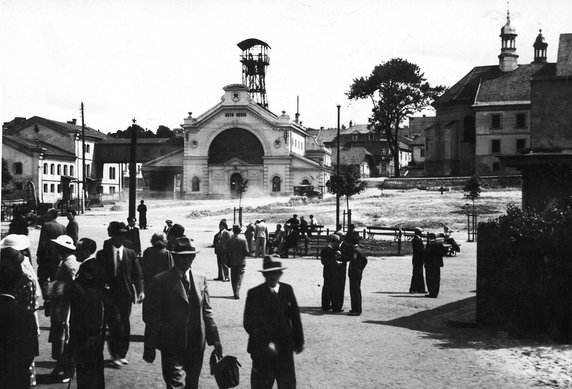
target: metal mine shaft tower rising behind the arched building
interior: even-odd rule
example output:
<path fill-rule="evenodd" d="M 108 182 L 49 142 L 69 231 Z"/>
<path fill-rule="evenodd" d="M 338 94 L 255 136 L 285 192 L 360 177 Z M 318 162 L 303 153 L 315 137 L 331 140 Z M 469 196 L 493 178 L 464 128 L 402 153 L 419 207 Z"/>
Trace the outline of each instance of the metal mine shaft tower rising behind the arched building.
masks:
<path fill-rule="evenodd" d="M 237 45 L 241 50 L 242 83 L 248 88 L 252 101 L 268 108 L 266 99 L 266 68 L 270 64 L 268 46 L 259 39 L 246 39 Z"/>

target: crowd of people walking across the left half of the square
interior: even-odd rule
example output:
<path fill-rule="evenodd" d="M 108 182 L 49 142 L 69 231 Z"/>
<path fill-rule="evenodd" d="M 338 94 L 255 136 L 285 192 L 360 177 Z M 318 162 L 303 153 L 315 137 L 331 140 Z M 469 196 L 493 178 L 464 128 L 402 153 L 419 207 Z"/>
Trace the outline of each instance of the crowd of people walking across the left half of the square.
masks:
<path fill-rule="evenodd" d="M 153 363 L 159 350 L 168 388 L 198 388 L 206 344 L 214 346 L 219 358 L 222 344 L 207 278 L 191 268 L 200 251 L 185 228 L 168 220 L 142 251 L 136 219 L 128 218 L 127 225 L 112 221 L 108 239 L 98 250 L 93 239 L 68 235 L 72 231 L 81 236 L 75 212 L 66 215 L 68 228 L 57 221 L 56 210 L 47 212 L 36 253 L 37 273 L 27 226 L 0 243 L 0 387 L 35 384 L 37 313 L 43 300 L 56 361 L 50 374 L 54 381 L 70 382 L 75 376 L 80 389 L 104 388 L 104 344 L 113 367 L 129 364 L 131 310 L 133 304 L 143 304 L 143 359 Z M 223 219 L 214 240 L 216 279 L 229 281 L 230 275 L 238 299 L 251 251 L 241 226 L 233 225 L 231 231 Z M 258 223 L 258 231 L 268 237 L 264 224 Z M 302 323 L 292 287 L 280 282 L 286 267 L 266 255 L 265 243 L 260 239 L 256 244 L 264 282 L 248 292 L 243 322 L 253 360 L 251 384 L 266 388 L 277 381 L 279 387 L 294 388 L 293 354 L 304 348 Z"/>

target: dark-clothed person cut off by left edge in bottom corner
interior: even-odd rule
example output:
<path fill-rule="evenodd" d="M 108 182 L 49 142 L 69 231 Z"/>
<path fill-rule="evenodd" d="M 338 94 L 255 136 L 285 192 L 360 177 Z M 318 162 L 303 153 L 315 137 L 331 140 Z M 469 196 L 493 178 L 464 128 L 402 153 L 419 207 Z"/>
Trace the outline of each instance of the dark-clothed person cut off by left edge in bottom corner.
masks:
<path fill-rule="evenodd" d="M 12 247 L 0 253 L 0 388 L 30 388 L 30 366 L 38 355 L 38 326 L 15 300 L 24 256 Z"/>

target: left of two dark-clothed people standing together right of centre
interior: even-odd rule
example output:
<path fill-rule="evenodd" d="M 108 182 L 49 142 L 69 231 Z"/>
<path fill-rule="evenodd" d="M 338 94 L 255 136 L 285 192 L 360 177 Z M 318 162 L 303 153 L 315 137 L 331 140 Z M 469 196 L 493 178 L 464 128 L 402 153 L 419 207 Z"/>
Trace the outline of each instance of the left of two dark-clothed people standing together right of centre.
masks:
<path fill-rule="evenodd" d="M 328 235 L 328 245 L 320 253 L 324 266 L 324 285 L 322 286 L 322 310 L 343 312 L 343 287 L 346 283 L 346 265 L 340 251 L 341 238 L 339 235 Z M 340 289 L 341 299 L 340 299 Z"/>

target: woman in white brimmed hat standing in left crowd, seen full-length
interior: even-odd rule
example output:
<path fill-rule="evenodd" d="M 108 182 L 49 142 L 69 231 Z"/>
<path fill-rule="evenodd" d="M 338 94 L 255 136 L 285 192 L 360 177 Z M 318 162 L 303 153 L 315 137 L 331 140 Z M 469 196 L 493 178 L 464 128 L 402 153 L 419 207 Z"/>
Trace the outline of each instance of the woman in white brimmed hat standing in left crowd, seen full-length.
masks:
<path fill-rule="evenodd" d="M 60 235 L 52 239 L 60 255 L 60 266 L 56 271 L 55 281 L 50 284 L 48 294 L 51 304 L 51 326 L 48 341 L 52 344 L 52 358 L 57 361 L 52 375 L 64 373 L 61 382 L 69 382 L 73 374 L 73 364 L 69 349 L 69 315 L 70 300 L 67 290 L 75 279 L 80 263 L 74 255 L 75 245 L 68 235 Z"/>

